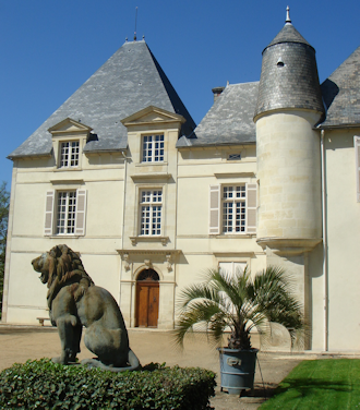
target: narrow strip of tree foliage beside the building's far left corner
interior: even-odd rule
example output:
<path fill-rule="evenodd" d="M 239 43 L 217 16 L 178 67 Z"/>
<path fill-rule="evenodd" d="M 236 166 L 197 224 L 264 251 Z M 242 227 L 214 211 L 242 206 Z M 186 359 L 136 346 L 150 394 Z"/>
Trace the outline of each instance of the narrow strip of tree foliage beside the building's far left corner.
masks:
<path fill-rule="evenodd" d="M 10 194 L 7 191 L 7 183 L 2 182 L 0 186 L 0 314 L 2 310 L 3 274 L 5 267 L 9 198 Z"/>

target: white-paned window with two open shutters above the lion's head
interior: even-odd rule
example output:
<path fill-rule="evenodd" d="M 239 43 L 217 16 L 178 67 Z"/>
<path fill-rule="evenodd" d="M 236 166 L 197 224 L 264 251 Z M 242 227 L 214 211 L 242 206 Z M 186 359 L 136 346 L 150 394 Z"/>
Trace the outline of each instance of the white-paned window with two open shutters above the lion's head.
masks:
<path fill-rule="evenodd" d="M 85 234 L 86 191 L 48 191 L 45 208 L 45 236 Z"/>

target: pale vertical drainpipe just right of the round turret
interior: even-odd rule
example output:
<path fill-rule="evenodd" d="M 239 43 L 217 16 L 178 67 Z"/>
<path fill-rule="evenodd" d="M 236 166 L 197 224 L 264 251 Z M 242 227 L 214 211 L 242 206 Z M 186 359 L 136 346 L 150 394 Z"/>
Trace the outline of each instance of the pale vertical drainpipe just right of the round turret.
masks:
<path fill-rule="evenodd" d="M 321 130 L 321 190 L 323 215 L 323 277 L 324 277 L 324 351 L 328 351 L 328 277 L 327 277 L 327 215 L 326 215 L 326 167 L 325 167 L 325 130 Z"/>

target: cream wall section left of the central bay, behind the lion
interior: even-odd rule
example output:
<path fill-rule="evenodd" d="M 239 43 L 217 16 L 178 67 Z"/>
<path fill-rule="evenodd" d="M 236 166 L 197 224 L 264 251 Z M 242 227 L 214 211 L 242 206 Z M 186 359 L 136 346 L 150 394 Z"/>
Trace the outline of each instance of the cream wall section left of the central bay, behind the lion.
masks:
<path fill-rule="evenodd" d="M 119 300 L 117 249 L 121 246 L 124 190 L 121 158 L 120 154 L 106 158 L 82 154 L 81 167 L 67 171 L 57 169 L 55 156 L 14 161 L 2 321 L 36 324 L 36 317 L 48 316 L 47 287 L 31 262 L 60 243 L 80 252 L 94 281 Z M 47 191 L 80 186 L 87 192 L 85 236 L 45 236 Z"/>

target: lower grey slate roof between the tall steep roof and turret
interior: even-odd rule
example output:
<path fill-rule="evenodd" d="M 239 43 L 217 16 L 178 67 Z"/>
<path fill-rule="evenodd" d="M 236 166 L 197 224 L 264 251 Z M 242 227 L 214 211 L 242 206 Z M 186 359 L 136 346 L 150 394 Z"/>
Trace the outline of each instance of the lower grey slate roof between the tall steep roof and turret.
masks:
<path fill-rule="evenodd" d="M 257 88 L 259 82 L 228 85 L 194 133 L 179 138 L 177 147 L 255 143 Z"/>

